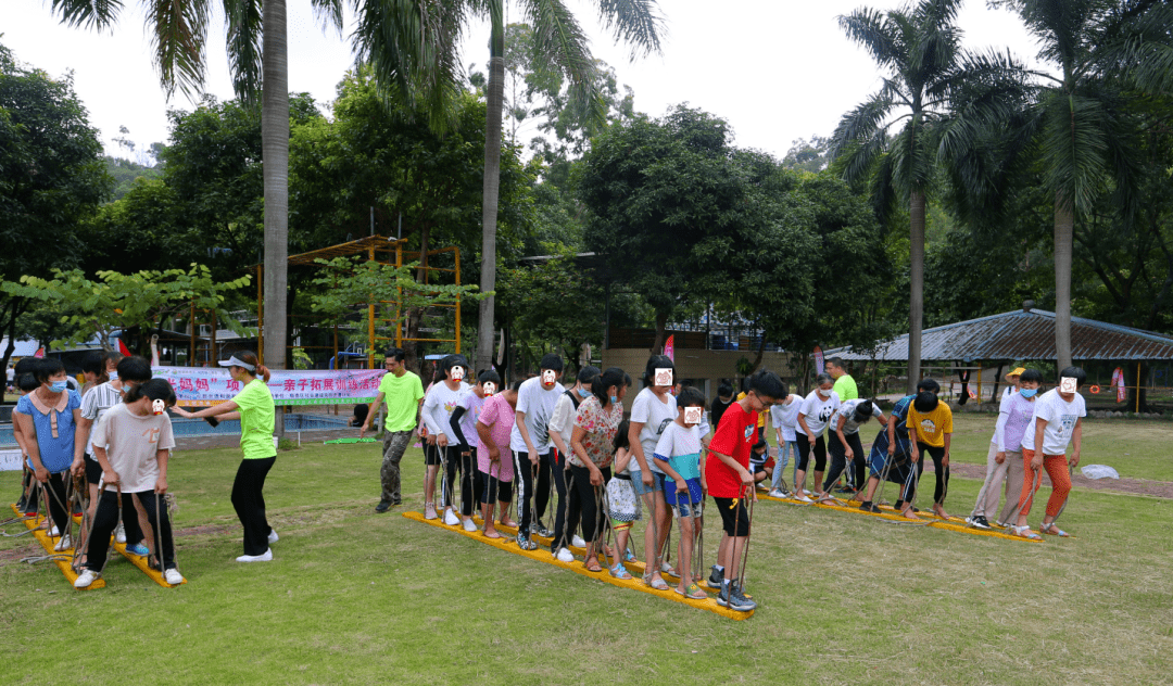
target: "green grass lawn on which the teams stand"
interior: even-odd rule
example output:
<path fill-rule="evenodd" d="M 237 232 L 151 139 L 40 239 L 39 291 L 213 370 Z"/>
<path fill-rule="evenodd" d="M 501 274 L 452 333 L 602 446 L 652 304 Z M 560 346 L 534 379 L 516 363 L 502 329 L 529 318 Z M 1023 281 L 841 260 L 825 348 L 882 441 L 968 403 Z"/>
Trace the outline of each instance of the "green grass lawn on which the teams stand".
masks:
<path fill-rule="evenodd" d="M 956 457 L 984 461 L 991 429 L 990 416 L 958 417 Z M 1090 422 L 1084 461 L 1168 480 L 1171 430 Z M 1166 500 L 1077 489 L 1063 524 L 1078 538 L 1044 544 L 764 501 L 748 569 L 759 607 L 731 622 L 375 515 L 373 444 L 282 453 L 266 487 L 276 559 L 236 564 L 238 460 L 174 457 L 176 527 L 204 528 L 179 538 L 182 587 L 118 558 L 108 586 L 84 593 L 55 568 L 0 563 L 0 684 L 1171 680 Z M 421 462 L 405 459 L 406 507 L 420 504 Z M 16 480 L 0 475 L 6 500 Z M 955 480 L 951 509 L 968 511 L 978 485 Z M 27 545 L 0 538 L 0 551 Z"/>

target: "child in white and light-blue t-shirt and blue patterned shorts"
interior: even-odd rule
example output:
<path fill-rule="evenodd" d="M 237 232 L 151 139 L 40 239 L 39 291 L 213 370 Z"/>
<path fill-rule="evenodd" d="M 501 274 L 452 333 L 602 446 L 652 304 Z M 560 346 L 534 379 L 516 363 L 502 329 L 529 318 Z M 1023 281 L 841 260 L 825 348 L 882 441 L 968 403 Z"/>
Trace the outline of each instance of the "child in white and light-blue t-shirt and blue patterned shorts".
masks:
<path fill-rule="evenodd" d="M 677 544 L 677 563 L 680 580 L 676 592 L 686 598 L 707 598 L 692 577 L 692 553 L 696 541 L 694 523 L 700 516 L 704 491 L 700 488 L 700 420 L 705 414 L 705 396 L 687 386 L 676 399 L 676 420 L 660 434 L 652 460 L 665 475 L 664 497 L 672 507 L 680 524 L 680 541 Z M 622 550 L 622 549 L 621 549 Z"/>

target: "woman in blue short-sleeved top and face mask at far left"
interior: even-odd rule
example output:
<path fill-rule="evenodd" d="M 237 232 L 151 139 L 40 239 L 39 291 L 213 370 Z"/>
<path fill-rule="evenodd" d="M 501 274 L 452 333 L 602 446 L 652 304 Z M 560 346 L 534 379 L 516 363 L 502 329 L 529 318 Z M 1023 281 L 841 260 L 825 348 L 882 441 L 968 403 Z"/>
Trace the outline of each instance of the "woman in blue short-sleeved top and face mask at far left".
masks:
<path fill-rule="evenodd" d="M 61 360 L 46 358 L 34 367 L 40 387 L 16 402 L 12 416 L 25 437 L 28 467 L 48 502 L 53 528 L 49 536 L 60 536 L 54 550 L 73 546 L 66 504 L 66 473 L 74 460 L 76 441 L 84 441 L 81 429 L 81 396 L 68 388 L 68 375 Z"/>

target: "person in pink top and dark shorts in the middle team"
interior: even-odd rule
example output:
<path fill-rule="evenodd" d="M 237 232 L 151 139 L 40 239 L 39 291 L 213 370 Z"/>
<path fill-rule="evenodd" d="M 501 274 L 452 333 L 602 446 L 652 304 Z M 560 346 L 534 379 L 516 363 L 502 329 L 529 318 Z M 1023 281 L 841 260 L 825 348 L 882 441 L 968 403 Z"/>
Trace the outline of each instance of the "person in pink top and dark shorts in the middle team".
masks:
<path fill-rule="evenodd" d="M 491 383 L 491 381 L 489 381 Z M 508 521 L 509 498 L 513 495 L 514 461 L 509 449 L 509 435 L 515 421 L 517 390 L 522 382 L 517 381 L 507 390 L 487 394 L 481 413 L 476 417 L 476 433 L 481 447 L 476 450 L 476 467 L 482 474 L 484 489 L 481 490 L 481 521 L 484 523 L 487 538 L 501 538 L 493 525 L 494 507 L 501 515 L 502 527 L 516 527 Z"/>

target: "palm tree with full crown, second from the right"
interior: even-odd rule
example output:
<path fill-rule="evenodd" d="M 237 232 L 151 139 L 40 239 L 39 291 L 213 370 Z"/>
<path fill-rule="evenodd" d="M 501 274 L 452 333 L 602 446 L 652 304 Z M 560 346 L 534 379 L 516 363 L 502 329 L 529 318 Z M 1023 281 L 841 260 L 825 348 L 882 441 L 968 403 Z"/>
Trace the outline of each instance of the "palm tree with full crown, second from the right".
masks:
<path fill-rule="evenodd" d="M 908 202 L 909 393 L 921 378 L 925 196 L 937 174 L 937 147 L 961 57 L 961 32 L 954 25 L 960 6 L 961 0 L 921 0 L 887 13 L 861 8 L 839 18 L 848 38 L 886 72 L 880 90 L 840 120 L 830 156 L 848 182 L 870 177 L 881 219 L 897 199 Z"/>

